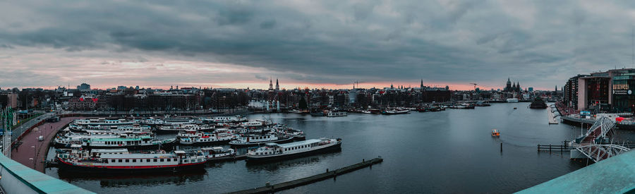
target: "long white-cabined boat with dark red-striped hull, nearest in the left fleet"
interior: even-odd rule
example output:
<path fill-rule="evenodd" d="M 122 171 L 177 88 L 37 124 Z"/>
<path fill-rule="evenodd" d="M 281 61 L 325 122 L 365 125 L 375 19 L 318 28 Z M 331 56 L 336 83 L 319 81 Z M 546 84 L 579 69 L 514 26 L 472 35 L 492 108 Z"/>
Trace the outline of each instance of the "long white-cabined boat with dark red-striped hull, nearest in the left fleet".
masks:
<path fill-rule="evenodd" d="M 202 168 L 207 159 L 203 156 L 188 155 L 183 151 L 170 153 L 129 153 L 123 150 L 83 150 L 73 145 L 70 152 L 56 155 L 60 168 L 73 171 L 175 171 L 185 168 Z"/>

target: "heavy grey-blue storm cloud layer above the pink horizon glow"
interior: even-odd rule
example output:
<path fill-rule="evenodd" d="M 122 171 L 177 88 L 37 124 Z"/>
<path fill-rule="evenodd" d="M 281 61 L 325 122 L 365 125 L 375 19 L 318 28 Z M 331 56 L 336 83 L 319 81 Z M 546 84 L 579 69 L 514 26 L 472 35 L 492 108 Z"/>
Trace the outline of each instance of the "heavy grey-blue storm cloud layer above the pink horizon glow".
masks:
<path fill-rule="evenodd" d="M 551 87 L 629 63 L 633 5 L 594 1 L 11 1 L 0 47 L 188 56 L 294 80 Z M 138 61 L 146 61 L 140 58 Z M 567 71 L 555 71 L 564 69 Z M 547 73 L 547 74 L 545 74 Z M 549 75 L 548 73 L 551 73 Z M 253 76 L 253 75 L 251 75 Z M 255 75 L 256 79 L 268 76 Z M 176 78 L 175 78 L 176 79 Z M 502 80 L 502 81 L 501 81 Z M 526 83 L 526 84 L 525 84 Z"/>

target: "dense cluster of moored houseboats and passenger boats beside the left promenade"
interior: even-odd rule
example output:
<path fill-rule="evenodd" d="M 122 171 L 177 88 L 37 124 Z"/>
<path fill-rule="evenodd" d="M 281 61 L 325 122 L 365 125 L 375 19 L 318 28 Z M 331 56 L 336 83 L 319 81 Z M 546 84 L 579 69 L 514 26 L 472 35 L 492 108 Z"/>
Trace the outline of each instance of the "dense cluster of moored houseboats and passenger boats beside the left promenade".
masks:
<path fill-rule="evenodd" d="M 341 144 L 340 139 L 306 140 L 302 131 L 271 121 L 236 118 L 179 123 L 80 119 L 58 133 L 53 144 L 61 168 L 124 173 L 198 169 L 210 160 L 236 157 L 236 150 L 217 145 L 250 147 L 248 162 L 261 162 L 334 150 Z M 159 130 L 176 135 L 161 140 L 155 135 Z M 274 151 L 263 151 L 267 149 Z"/>

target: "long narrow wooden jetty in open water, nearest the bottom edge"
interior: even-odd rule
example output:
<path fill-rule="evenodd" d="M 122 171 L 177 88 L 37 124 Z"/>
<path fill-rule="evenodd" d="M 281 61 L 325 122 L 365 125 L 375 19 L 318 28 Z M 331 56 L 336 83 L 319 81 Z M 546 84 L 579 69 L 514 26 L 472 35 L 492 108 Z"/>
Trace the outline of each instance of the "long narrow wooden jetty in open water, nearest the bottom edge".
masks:
<path fill-rule="evenodd" d="M 357 164 L 353 164 L 351 166 L 346 166 L 344 168 L 341 169 L 337 169 L 334 171 L 329 171 L 328 169 L 326 170 L 325 173 L 322 174 L 317 174 L 317 175 L 313 175 L 313 176 L 309 176 L 306 178 L 300 178 L 294 181 L 286 181 L 284 183 L 277 183 L 275 185 L 271 185 L 271 186 L 263 186 L 260 188 L 253 188 L 253 189 L 248 189 L 248 190 L 240 190 L 240 191 L 236 191 L 236 192 L 232 192 L 232 193 L 274 193 L 274 192 L 278 192 L 280 190 L 286 190 L 289 188 L 295 188 L 298 186 L 303 186 L 303 185 L 307 185 L 309 183 L 315 183 L 317 181 L 322 181 L 325 180 L 327 178 L 336 178 L 338 175 L 341 174 L 346 174 L 349 173 L 351 171 L 355 171 L 358 169 L 363 169 L 366 166 L 370 166 L 370 168 L 373 168 L 373 164 L 378 164 L 383 162 L 384 159 L 378 157 L 375 159 L 370 159 L 370 160 L 363 160 L 360 163 Z"/>

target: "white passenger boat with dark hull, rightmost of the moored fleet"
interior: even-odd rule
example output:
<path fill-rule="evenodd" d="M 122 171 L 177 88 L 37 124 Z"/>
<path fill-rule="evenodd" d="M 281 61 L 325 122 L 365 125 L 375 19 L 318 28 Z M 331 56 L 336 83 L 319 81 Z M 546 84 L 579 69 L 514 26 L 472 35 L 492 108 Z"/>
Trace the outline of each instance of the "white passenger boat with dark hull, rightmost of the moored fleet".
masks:
<path fill-rule="evenodd" d="M 247 152 L 248 162 L 262 162 L 267 160 L 299 157 L 318 152 L 337 150 L 341 147 L 341 139 L 321 138 L 319 140 L 303 140 L 294 143 L 267 143 L 265 146 L 251 149 Z"/>

